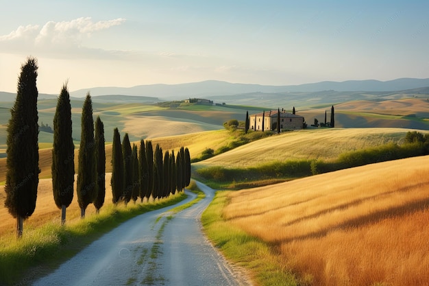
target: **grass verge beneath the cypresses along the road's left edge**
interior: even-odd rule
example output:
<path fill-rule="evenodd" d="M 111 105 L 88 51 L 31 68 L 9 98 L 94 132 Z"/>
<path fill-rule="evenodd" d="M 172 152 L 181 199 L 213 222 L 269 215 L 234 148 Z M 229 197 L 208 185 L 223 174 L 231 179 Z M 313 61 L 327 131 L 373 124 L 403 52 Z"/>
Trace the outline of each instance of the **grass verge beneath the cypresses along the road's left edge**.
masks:
<path fill-rule="evenodd" d="M 145 204 L 114 206 L 108 204 L 98 215 L 68 222 L 49 222 L 41 227 L 25 230 L 22 239 L 3 237 L 0 240 L 0 285 L 16 285 L 47 274 L 59 263 L 73 257 L 98 237 L 119 226 L 127 219 L 171 206 L 184 200 L 183 192 L 170 198 Z"/>

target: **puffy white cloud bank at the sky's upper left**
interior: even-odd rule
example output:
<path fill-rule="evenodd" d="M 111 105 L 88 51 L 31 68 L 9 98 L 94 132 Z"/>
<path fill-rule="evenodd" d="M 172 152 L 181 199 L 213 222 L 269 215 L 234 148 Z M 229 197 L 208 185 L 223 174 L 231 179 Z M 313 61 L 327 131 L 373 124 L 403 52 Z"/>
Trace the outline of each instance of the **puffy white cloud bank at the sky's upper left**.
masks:
<path fill-rule="evenodd" d="M 125 19 L 121 18 L 93 22 L 90 17 L 82 17 L 72 21 L 49 21 L 41 28 L 39 25 L 20 26 L 10 34 L 0 36 L 0 52 L 64 53 L 80 50 L 88 53 L 93 49 L 82 47 L 84 38 L 124 22 Z"/>

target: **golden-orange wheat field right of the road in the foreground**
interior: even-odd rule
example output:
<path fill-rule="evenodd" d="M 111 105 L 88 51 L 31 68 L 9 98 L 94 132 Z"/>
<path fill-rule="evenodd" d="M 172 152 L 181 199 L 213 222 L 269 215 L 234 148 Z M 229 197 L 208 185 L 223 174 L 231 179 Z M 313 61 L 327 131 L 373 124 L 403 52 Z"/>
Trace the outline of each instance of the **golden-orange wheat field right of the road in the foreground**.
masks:
<path fill-rule="evenodd" d="M 429 156 L 345 169 L 232 192 L 223 215 L 310 285 L 428 285 L 428 174 Z"/>

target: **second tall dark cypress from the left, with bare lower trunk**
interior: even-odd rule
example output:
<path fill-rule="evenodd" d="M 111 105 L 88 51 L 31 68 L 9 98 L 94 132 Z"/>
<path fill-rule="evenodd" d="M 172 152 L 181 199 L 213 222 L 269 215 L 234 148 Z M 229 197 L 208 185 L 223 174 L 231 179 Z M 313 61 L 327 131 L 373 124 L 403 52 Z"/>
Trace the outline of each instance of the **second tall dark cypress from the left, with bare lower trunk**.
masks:
<path fill-rule="evenodd" d="M 75 182 L 75 145 L 73 144 L 71 104 L 67 83 L 61 88 L 53 117 L 52 191 L 61 210 L 61 224 L 66 222 L 66 208 L 73 200 Z"/>

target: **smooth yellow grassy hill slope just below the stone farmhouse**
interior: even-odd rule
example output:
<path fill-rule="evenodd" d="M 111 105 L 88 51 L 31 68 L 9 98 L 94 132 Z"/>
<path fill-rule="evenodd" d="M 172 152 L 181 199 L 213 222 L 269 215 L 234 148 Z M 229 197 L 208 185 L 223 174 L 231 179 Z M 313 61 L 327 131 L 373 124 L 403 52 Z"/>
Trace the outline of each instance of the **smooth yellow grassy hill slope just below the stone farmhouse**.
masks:
<path fill-rule="evenodd" d="M 403 128 L 326 128 L 285 132 L 243 145 L 195 166 L 243 167 L 295 159 L 332 160 L 343 152 L 390 142 L 401 143 L 408 131 Z"/>

